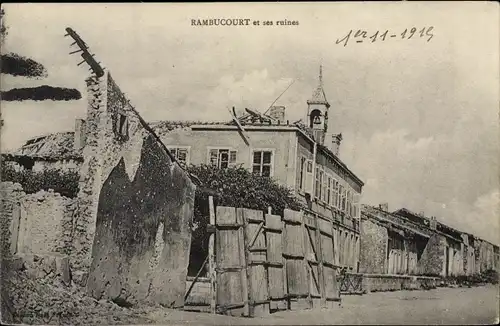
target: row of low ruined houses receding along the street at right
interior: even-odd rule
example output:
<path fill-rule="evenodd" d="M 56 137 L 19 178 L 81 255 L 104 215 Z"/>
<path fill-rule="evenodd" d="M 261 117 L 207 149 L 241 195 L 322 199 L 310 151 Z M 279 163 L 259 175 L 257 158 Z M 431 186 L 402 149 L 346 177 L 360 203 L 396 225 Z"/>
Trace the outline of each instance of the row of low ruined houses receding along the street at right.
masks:
<path fill-rule="evenodd" d="M 360 272 L 459 276 L 500 270 L 498 246 L 406 208 L 363 205 Z"/>

